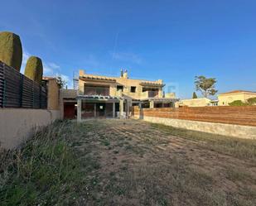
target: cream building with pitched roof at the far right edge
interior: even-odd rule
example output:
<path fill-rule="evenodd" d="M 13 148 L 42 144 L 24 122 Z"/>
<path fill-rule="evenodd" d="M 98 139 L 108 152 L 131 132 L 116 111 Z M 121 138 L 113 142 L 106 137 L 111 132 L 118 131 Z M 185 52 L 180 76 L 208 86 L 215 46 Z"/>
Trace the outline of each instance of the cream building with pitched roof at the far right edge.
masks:
<path fill-rule="evenodd" d="M 236 100 L 240 100 L 245 103 L 249 98 L 256 98 L 256 92 L 234 90 L 227 93 L 220 93 L 218 95 L 219 106 L 229 106 L 229 103 Z"/>

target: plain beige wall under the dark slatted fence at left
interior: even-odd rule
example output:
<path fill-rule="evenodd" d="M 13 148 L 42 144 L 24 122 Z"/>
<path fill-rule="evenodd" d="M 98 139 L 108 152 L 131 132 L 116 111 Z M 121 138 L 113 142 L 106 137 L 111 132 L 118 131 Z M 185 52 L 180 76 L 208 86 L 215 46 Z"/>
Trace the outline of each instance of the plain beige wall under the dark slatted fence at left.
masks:
<path fill-rule="evenodd" d="M 31 136 L 39 127 L 60 118 L 59 110 L 30 108 L 0 109 L 0 148 L 12 149 Z"/>

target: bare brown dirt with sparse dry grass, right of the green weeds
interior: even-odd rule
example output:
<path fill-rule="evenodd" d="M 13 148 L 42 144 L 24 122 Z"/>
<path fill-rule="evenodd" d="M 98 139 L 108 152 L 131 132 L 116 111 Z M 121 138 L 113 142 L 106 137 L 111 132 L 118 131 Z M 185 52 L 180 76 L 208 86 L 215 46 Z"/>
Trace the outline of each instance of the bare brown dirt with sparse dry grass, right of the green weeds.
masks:
<path fill-rule="evenodd" d="M 80 127 L 100 165 L 88 205 L 256 204 L 254 154 L 222 150 L 221 141 L 209 147 L 207 134 L 170 132 L 147 122 L 100 120 Z"/>

